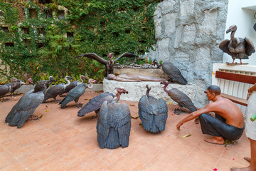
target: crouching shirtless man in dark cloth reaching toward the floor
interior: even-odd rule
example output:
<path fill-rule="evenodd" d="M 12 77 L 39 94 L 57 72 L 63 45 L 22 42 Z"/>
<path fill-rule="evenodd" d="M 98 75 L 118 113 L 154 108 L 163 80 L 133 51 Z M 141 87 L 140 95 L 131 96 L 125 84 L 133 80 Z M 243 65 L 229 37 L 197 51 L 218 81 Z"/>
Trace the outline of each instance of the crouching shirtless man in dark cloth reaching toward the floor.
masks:
<path fill-rule="evenodd" d="M 213 103 L 208 103 L 204 108 L 183 118 L 176 125 L 177 130 L 180 130 L 183 123 L 199 116 L 203 134 L 213 135 L 213 138 L 206 138 L 206 142 L 224 144 L 225 139 L 238 140 L 244 130 L 244 118 L 240 108 L 231 100 L 221 97 L 218 86 L 209 86 L 205 93 Z M 215 113 L 215 118 L 206 114 L 209 112 Z"/>

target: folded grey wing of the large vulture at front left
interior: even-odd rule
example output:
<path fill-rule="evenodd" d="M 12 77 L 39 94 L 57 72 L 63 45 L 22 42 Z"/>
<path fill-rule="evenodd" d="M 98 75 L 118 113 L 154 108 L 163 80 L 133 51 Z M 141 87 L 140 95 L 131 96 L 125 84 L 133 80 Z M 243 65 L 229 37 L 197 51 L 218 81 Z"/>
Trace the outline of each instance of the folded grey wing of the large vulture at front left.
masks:
<path fill-rule="evenodd" d="M 17 128 L 21 128 L 29 116 L 33 115 L 38 105 L 43 102 L 43 98 L 44 94 L 42 91 L 37 93 L 33 93 L 33 90 L 28 91 L 18 100 L 18 103 L 14 105 L 6 116 L 6 123 L 9 123 L 10 126 L 17 125 Z"/>

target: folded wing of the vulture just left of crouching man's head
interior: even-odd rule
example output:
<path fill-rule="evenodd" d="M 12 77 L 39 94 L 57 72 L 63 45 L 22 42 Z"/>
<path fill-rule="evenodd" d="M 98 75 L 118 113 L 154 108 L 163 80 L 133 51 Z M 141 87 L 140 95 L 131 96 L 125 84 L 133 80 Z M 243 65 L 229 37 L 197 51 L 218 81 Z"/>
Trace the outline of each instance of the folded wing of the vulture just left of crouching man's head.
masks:
<path fill-rule="evenodd" d="M 188 108 L 188 110 L 191 110 L 191 112 L 196 111 L 195 105 L 193 105 L 191 99 L 185 93 L 181 92 L 176 88 L 173 88 L 169 90 L 169 94 L 171 96 L 171 99 L 176 101 L 176 103 L 178 103 L 181 108 Z"/>

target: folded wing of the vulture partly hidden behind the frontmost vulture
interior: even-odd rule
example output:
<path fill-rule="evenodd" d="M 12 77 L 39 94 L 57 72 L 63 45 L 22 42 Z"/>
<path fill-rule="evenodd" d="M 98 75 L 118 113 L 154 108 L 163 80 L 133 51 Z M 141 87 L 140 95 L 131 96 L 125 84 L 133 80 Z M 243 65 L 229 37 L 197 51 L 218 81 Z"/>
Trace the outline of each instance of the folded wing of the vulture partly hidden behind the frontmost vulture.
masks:
<path fill-rule="evenodd" d="M 92 98 L 88 103 L 86 103 L 79 111 L 78 116 L 84 116 L 87 113 L 100 109 L 102 103 L 107 101 L 107 103 L 111 103 L 114 98 L 114 94 L 105 92 L 97 95 Z"/>

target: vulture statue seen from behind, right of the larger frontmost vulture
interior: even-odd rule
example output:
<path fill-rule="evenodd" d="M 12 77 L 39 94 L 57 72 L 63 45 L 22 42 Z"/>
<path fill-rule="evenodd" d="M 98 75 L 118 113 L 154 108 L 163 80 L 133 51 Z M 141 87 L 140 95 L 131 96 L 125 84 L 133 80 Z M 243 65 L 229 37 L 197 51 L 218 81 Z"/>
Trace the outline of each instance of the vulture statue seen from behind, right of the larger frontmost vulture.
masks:
<path fill-rule="evenodd" d="M 168 108 L 163 98 L 157 100 L 149 95 L 151 85 L 146 85 L 146 95 L 139 99 L 139 118 L 142 120 L 142 126 L 151 133 L 159 133 L 165 130 L 168 117 Z"/>

